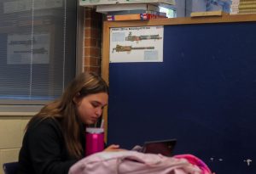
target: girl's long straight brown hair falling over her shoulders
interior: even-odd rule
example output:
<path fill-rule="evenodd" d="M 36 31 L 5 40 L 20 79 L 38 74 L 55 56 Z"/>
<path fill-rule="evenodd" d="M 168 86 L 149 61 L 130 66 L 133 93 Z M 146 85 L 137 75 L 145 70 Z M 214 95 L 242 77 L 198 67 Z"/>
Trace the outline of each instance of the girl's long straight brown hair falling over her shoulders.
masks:
<path fill-rule="evenodd" d="M 83 157 L 83 148 L 79 139 L 81 122 L 76 115 L 76 104 L 73 98 L 84 98 L 95 93 L 108 93 L 107 83 L 94 73 L 80 74 L 68 85 L 61 98 L 46 104 L 37 115 L 32 117 L 26 128 L 38 119 L 42 121 L 50 117 L 60 121 L 67 151 L 75 158 Z"/>

